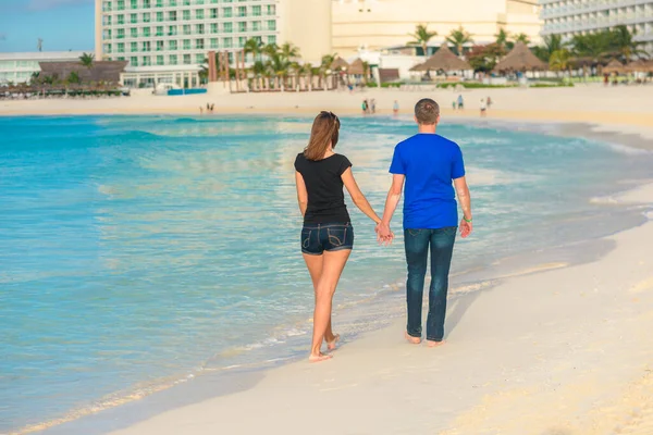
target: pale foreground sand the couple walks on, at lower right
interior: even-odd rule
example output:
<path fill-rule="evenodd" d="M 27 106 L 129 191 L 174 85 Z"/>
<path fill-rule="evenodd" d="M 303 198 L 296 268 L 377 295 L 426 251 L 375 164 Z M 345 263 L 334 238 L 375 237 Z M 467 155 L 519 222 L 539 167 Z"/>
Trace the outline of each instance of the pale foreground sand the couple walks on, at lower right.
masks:
<path fill-rule="evenodd" d="M 625 199 L 653 206 L 653 185 Z M 114 435 L 653 434 L 653 222 L 611 239 L 594 263 L 460 300 L 442 348 L 405 343 L 402 321 Z"/>

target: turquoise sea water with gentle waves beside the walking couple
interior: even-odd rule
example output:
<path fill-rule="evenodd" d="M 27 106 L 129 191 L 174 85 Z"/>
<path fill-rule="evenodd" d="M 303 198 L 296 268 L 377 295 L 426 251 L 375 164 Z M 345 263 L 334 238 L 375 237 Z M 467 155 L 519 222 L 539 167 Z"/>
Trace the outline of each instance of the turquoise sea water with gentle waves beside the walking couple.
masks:
<path fill-rule="evenodd" d="M 309 130 L 301 117 L 0 117 L 0 433 L 303 355 L 313 300 L 293 161 Z M 338 151 L 379 212 L 393 147 L 414 132 L 343 120 Z M 619 229 L 628 211 L 590 199 L 653 167 L 583 139 L 440 133 L 464 150 L 476 215 L 454 287 L 503 258 Z M 355 333 L 401 313 L 405 266 L 401 231 L 379 248 L 350 212 L 334 321 Z"/>

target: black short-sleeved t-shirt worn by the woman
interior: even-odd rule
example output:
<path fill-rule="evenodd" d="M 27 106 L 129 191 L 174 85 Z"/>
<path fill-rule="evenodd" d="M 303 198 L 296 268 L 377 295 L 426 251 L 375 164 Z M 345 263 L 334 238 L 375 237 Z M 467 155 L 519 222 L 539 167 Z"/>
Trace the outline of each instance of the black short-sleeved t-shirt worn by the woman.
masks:
<path fill-rule="evenodd" d="M 308 160 L 299 153 L 295 170 L 304 177 L 308 191 L 308 208 L 304 216 L 307 224 L 348 223 L 349 213 L 345 206 L 341 176 L 352 166 L 349 159 L 333 154 L 322 160 Z"/>

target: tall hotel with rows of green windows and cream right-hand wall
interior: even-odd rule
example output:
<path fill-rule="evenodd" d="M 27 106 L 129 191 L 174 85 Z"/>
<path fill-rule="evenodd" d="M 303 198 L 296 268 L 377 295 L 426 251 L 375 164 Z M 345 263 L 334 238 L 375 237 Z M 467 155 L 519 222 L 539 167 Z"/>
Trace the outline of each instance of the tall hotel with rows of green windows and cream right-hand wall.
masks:
<path fill-rule="evenodd" d="M 126 86 L 199 84 L 209 50 L 292 42 L 307 62 L 331 48 L 332 0 L 96 0 L 96 58 L 130 62 Z"/>

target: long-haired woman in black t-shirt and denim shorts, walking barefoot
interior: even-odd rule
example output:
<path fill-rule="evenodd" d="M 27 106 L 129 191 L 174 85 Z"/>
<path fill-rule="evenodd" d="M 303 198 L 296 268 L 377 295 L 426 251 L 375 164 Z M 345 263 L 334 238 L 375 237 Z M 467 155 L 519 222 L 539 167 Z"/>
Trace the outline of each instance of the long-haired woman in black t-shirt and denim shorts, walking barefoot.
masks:
<path fill-rule="evenodd" d="M 354 248 L 354 228 L 343 185 L 368 217 L 377 224 L 381 222 L 360 192 L 349 160 L 333 152 L 338 132 L 337 116 L 321 112 L 313 122 L 308 147 L 295 160 L 297 200 L 304 215 L 301 253 L 316 293 L 310 362 L 330 359 L 330 355 L 321 352 L 322 341 L 333 350 L 340 339 L 331 327 L 331 307 L 335 287 Z"/>

